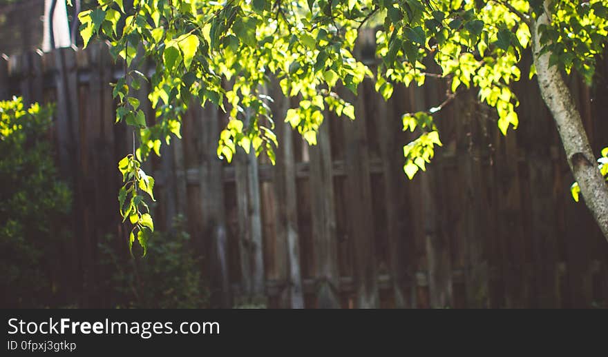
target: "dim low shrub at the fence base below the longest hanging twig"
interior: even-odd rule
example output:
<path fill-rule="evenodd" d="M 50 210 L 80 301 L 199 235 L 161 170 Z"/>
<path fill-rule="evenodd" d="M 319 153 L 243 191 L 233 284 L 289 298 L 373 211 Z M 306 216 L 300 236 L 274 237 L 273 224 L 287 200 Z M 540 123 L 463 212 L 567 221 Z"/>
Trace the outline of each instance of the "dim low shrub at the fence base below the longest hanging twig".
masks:
<path fill-rule="evenodd" d="M 200 264 L 193 257 L 183 225 L 184 220 L 178 217 L 171 232 L 152 233 L 151 254 L 145 259 L 125 257 L 122 249 L 117 251 L 116 236 L 106 236 L 99 243 L 102 271 L 107 276 L 98 288 L 110 296 L 111 307 L 207 307 Z"/>

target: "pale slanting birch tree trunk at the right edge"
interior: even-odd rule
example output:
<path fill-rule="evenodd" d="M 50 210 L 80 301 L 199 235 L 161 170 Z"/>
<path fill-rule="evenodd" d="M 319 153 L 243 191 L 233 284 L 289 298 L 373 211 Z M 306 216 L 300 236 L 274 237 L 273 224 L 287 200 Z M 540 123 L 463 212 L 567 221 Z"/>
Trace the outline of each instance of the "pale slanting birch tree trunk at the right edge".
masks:
<path fill-rule="evenodd" d="M 540 54 L 542 45 L 538 29 L 551 24 L 547 3 L 545 1 L 545 12 L 534 21 L 532 29 L 532 53 L 540 93 L 558 126 L 570 170 L 578 181 L 585 203 L 608 240 L 608 185 L 598 170 L 580 113 L 560 70 L 557 66 L 549 65 L 550 52 Z"/>

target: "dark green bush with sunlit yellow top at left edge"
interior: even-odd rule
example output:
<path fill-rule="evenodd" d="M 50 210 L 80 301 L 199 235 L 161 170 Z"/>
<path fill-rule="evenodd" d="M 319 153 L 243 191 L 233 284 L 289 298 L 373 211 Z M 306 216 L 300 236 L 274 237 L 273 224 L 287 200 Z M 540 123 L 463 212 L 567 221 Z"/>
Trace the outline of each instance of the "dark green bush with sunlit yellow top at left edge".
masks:
<path fill-rule="evenodd" d="M 46 307 L 61 288 L 59 256 L 71 194 L 47 140 L 51 109 L 0 101 L 0 290 L 3 307 Z M 36 264 L 32 264 L 36 262 Z"/>

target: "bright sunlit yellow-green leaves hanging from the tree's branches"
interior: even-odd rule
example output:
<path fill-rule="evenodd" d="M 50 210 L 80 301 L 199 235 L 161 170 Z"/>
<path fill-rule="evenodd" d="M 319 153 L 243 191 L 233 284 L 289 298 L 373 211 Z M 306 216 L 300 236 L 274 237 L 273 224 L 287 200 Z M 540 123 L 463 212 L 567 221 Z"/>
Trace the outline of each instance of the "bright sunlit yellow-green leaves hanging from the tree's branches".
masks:
<path fill-rule="evenodd" d="M 429 75 L 446 79 L 452 94 L 477 88 L 506 134 L 519 125 L 519 102 L 510 85 L 520 79 L 517 64 L 542 5 L 542 0 L 135 0 L 129 8 L 122 0 L 99 0 L 97 8 L 79 14 L 81 34 L 85 45 L 95 34 L 107 39 L 113 57 L 124 62 L 126 75 L 113 92 L 120 101 L 117 121 L 138 128 L 141 139 L 122 161 L 121 206 L 125 190 L 130 198 L 121 213 L 136 225 L 145 245 L 149 217 L 142 214 L 147 210 L 137 187 L 142 181 L 151 187 L 140 162 L 151 152 L 158 155 L 171 134 L 180 137 L 180 115 L 192 98 L 211 101 L 230 114 L 220 134 L 220 158 L 231 161 L 240 146 L 274 161 L 272 98 L 264 90 L 272 77 L 283 94 L 300 99 L 284 119 L 311 145 L 325 111 L 356 116 L 339 88 L 356 94 L 363 79 L 372 76 L 386 99 L 396 84 L 424 85 Z M 543 51 L 551 52 L 551 63 L 564 72 L 574 69 L 591 81 L 596 55 L 607 42 L 605 1 L 552 0 L 549 10 L 551 26 L 540 28 Z M 379 24 L 375 74 L 354 56 L 359 31 L 368 23 Z M 156 65 L 149 94 L 155 121 L 130 96 L 147 80 L 131 69 L 144 59 Z M 439 72 L 426 72 L 423 63 L 433 62 Z M 441 108 L 403 117 L 404 128 L 420 134 L 403 149 L 403 169 L 410 178 L 425 170 L 441 145 L 433 125 L 433 114 Z"/>

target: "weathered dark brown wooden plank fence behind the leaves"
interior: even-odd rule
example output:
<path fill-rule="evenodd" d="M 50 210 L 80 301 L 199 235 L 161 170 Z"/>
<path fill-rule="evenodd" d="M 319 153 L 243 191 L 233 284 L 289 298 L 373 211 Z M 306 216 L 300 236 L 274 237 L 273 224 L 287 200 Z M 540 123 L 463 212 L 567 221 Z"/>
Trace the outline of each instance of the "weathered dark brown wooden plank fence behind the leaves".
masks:
<path fill-rule="evenodd" d="M 86 289 L 99 274 L 97 241 L 125 235 L 116 165 L 133 143 L 114 124 L 108 85 L 120 75 L 102 44 L 0 61 L 0 98 L 57 105 L 53 137 L 76 197 L 69 252 L 82 274 L 73 286 L 91 306 L 103 305 Z M 608 81 L 599 83 L 571 80 L 596 153 L 608 145 Z M 149 167 L 155 221 L 166 230 L 175 214 L 187 217 L 214 307 L 604 306 L 608 243 L 569 195 L 572 177 L 535 82 L 515 85 L 521 124 L 506 137 L 474 93 L 459 96 L 437 118 L 444 147 L 408 181 L 402 146 L 412 136 L 401 114 L 431 108 L 445 92 L 431 81 L 396 88 L 385 102 L 366 81 L 350 98 L 357 120 L 326 116 L 318 146 L 279 121 L 276 166 L 243 153 L 231 165 L 218 160 L 226 115 L 191 108 L 183 140 Z M 278 96 L 273 109 L 280 118 L 295 104 Z"/>

